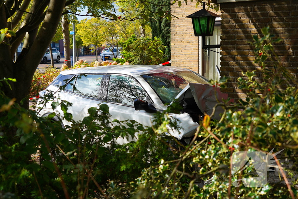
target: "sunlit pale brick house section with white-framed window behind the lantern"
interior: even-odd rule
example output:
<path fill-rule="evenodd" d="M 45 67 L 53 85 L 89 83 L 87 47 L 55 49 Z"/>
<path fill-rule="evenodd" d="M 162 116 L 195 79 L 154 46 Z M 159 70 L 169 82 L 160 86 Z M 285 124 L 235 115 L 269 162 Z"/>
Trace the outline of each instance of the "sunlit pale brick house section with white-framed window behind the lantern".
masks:
<path fill-rule="evenodd" d="M 205 73 L 204 76 L 210 79 L 219 78 L 215 65 L 219 67 L 220 49 L 213 49 L 218 53 L 205 52 L 202 49 L 202 38 L 194 36 L 191 19 L 185 18 L 202 9 L 201 6 L 195 7 L 196 2 L 188 2 L 187 5 L 183 4 L 181 7 L 178 4 L 171 6 L 171 14 L 179 17 L 173 17 L 171 21 L 171 66 L 188 68 L 199 74 Z M 208 40 L 212 44 L 220 42 L 220 18 L 217 20 L 214 35 Z M 209 63 L 209 57 L 211 57 L 211 63 Z M 213 67 L 209 67 L 209 65 Z"/>

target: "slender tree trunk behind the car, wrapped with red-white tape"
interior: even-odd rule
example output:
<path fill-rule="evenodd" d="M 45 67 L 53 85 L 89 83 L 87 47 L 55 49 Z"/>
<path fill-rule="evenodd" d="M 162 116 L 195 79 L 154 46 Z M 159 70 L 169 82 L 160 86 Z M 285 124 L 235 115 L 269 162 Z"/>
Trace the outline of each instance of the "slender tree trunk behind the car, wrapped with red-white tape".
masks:
<path fill-rule="evenodd" d="M 70 68 L 70 40 L 69 40 L 69 21 L 68 16 L 62 17 L 62 33 L 63 33 L 63 46 L 64 46 L 64 63 Z"/>

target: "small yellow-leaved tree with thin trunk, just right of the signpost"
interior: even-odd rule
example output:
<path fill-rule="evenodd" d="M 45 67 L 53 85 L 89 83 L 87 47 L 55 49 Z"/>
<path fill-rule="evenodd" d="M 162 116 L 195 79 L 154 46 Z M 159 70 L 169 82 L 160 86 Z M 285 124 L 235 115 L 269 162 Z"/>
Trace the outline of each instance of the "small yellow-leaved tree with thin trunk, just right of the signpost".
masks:
<path fill-rule="evenodd" d="M 100 18 L 83 19 L 77 24 L 77 34 L 83 41 L 83 45 L 94 45 L 96 61 L 97 58 L 97 47 L 100 47 L 103 41 L 103 22 Z"/>

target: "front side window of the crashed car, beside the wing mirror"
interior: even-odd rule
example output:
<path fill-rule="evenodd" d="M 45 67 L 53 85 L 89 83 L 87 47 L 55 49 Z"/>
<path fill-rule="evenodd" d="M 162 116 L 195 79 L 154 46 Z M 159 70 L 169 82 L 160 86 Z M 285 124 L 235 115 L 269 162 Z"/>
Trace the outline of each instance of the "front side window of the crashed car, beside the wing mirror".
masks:
<path fill-rule="evenodd" d="M 133 78 L 110 76 L 107 101 L 134 106 L 136 98 L 146 100 L 146 93 Z"/>

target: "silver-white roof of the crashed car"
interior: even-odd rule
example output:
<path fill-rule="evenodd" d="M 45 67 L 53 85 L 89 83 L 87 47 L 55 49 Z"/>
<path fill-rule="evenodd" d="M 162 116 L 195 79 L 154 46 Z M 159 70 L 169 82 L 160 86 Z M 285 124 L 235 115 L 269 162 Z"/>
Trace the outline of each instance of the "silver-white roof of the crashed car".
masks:
<path fill-rule="evenodd" d="M 175 71 L 191 71 L 185 68 L 171 66 L 154 66 L 154 65 L 113 65 L 86 67 L 71 70 L 64 70 L 62 75 L 87 74 L 87 73 L 120 73 L 126 75 L 145 75 L 158 72 L 175 72 Z"/>

